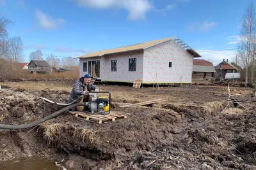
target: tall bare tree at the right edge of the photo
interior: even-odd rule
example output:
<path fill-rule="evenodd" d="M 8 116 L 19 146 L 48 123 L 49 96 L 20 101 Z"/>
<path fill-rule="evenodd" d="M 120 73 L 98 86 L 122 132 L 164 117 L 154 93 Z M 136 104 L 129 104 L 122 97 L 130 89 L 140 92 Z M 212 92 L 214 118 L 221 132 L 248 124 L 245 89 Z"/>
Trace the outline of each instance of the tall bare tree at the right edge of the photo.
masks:
<path fill-rule="evenodd" d="M 246 9 L 243 20 L 242 20 L 242 28 L 241 28 L 241 41 L 238 45 L 237 55 L 241 64 L 245 67 L 245 83 L 248 84 L 248 76 L 249 76 L 249 67 L 254 67 L 254 52 L 255 50 L 255 30 L 256 29 L 256 18 L 255 18 L 255 8 L 253 3 L 250 3 L 248 8 Z M 253 71 L 252 71 L 253 74 Z M 253 83 L 253 75 L 252 75 L 252 83 Z"/>

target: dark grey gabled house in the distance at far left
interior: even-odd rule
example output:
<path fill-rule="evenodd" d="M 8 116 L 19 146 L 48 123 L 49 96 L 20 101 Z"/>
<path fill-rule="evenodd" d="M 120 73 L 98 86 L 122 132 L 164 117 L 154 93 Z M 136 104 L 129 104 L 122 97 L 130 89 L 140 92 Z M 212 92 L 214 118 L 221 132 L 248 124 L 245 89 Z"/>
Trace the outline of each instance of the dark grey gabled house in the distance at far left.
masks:
<path fill-rule="evenodd" d="M 45 60 L 31 60 L 28 64 L 31 73 L 49 73 L 51 66 Z"/>

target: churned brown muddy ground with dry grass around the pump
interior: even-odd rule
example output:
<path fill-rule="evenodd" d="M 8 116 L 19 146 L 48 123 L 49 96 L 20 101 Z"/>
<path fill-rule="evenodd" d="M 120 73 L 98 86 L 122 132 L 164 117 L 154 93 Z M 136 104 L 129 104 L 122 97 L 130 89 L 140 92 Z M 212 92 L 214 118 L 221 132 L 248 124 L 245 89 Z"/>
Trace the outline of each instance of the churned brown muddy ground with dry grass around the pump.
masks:
<path fill-rule="evenodd" d="M 72 81 L 0 83 L 0 124 L 28 124 L 60 110 Z M 253 89 L 230 87 L 244 107 L 227 106 L 227 87 L 98 85 L 110 91 L 116 122 L 81 120 L 66 111 L 22 130 L 0 130 L 0 162 L 40 156 L 74 169 L 256 169 Z M 151 106 L 122 104 L 163 99 Z"/>

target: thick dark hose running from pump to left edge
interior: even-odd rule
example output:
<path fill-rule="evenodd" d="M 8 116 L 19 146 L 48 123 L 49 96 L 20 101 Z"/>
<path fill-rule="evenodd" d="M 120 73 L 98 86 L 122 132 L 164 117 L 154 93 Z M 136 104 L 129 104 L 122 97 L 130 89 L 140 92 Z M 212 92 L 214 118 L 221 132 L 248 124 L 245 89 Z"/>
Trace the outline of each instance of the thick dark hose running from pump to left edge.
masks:
<path fill-rule="evenodd" d="M 40 118 L 36 122 L 32 122 L 30 124 L 22 124 L 22 125 L 5 125 L 5 124 L 0 124 L 0 129 L 26 129 L 28 127 L 33 127 L 35 125 L 41 124 L 42 122 L 45 122 L 46 120 L 54 118 L 57 115 L 60 115 L 64 111 L 70 110 L 71 108 L 74 108 L 74 107 L 77 107 L 77 106 L 83 106 L 83 103 L 72 104 L 70 106 L 67 106 L 65 108 L 62 108 L 61 110 L 58 110 L 58 111 L 52 113 L 51 115 L 48 115 L 47 117 Z"/>

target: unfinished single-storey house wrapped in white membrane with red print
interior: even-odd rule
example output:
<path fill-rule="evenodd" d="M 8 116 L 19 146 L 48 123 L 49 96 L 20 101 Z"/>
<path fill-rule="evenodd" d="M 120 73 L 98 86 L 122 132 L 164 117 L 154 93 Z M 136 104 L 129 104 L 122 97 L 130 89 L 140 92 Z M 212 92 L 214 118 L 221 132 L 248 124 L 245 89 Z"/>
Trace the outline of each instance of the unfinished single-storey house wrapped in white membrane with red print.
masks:
<path fill-rule="evenodd" d="M 178 37 L 88 53 L 79 58 L 79 74 L 97 80 L 142 84 L 191 83 L 194 57 L 201 57 Z"/>

